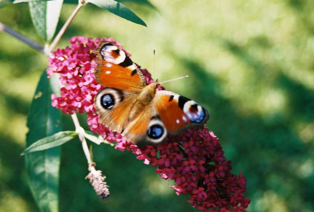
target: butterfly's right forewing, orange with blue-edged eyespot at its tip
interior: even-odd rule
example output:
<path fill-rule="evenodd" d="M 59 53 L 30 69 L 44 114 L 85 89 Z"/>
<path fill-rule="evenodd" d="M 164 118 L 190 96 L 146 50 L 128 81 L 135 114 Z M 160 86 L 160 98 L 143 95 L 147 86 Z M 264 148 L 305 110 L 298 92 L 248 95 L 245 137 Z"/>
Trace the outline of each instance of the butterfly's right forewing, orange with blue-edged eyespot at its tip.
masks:
<path fill-rule="evenodd" d="M 193 127 L 202 128 L 209 119 L 207 110 L 201 105 L 170 91 L 157 91 L 154 107 L 172 135 L 179 135 Z"/>

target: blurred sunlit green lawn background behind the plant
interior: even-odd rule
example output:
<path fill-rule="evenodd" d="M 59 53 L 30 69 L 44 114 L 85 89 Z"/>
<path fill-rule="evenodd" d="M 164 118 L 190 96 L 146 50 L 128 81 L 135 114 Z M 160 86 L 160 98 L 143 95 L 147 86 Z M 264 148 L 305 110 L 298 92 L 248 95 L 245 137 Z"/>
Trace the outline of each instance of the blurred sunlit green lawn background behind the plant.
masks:
<path fill-rule="evenodd" d="M 247 180 L 248 211 L 314 211 L 314 2 L 301 0 L 152 0 L 124 2 L 147 28 L 88 4 L 72 36 L 113 37 L 154 79 L 205 106 L 231 170 Z M 58 29 L 75 5 L 63 5 Z M 28 4 L 7 4 L 0 22 L 44 44 Z M 156 49 L 153 71 L 153 49 Z M 37 211 L 27 185 L 26 117 L 47 58 L 0 32 L 0 211 Z M 79 116 L 85 125 L 85 115 Z M 64 130 L 74 130 L 69 115 Z M 111 196 L 101 200 L 85 180 L 78 140 L 62 146 L 61 211 L 198 211 L 154 168 L 130 152 L 93 146 Z"/>

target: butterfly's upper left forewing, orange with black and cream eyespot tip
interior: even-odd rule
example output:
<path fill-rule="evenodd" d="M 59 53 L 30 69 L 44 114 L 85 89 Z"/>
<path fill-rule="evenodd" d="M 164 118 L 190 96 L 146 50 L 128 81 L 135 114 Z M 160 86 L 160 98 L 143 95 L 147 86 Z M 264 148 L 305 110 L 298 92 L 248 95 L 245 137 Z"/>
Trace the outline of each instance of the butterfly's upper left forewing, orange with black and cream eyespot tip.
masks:
<path fill-rule="evenodd" d="M 128 91 L 138 91 L 146 86 L 142 72 L 113 43 L 101 41 L 93 52 L 97 57 L 95 77 L 99 84 Z"/>

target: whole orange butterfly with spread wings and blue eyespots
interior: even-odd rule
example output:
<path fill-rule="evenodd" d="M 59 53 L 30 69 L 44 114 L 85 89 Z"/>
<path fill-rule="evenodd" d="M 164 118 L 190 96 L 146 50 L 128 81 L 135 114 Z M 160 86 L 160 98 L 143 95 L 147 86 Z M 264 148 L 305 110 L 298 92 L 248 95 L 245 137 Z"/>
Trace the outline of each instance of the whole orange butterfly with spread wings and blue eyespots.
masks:
<path fill-rule="evenodd" d="M 103 86 L 94 98 L 99 123 L 122 133 L 139 147 L 157 145 L 167 134 L 202 127 L 209 118 L 199 104 L 170 91 L 156 91 L 157 83 L 147 84 L 143 73 L 119 47 L 101 41 L 95 77 Z"/>

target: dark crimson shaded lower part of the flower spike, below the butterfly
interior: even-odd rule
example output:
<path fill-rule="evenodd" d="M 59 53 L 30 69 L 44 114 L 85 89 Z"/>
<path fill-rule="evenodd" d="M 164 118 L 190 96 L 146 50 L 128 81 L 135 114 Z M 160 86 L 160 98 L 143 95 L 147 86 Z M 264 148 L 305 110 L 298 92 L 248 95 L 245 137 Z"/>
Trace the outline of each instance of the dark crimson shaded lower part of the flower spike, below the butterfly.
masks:
<path fill-rule="evenodd" d="M 178 195 L 190 194 L 188 202 L 202 211 L 216 211 L 217 207 L 219 211 L 245 211 L 250 203 L 243 194 L 245 178 L 241 172 L 239 177 L 229 172 L 231 161 L 226 161 L 219 139 L 206 127 L 169 135 L 165 143 L 135 153 L 157 167 L 155 172 L 162 178 L 174 180 L 177 185 L 171 188 Z"/>

